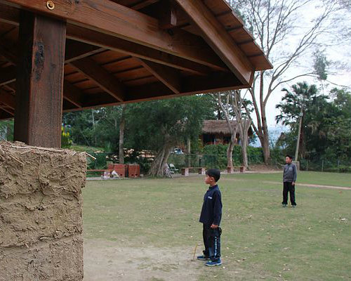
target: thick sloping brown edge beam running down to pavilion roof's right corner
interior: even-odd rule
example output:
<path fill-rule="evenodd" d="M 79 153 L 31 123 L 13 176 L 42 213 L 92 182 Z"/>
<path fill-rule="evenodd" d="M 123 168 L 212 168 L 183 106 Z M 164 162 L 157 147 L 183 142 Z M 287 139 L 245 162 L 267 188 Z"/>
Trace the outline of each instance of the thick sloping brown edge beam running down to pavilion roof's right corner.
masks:
<path fill-rule="evenodd" d="M 251 84 L 253 66 L 207 6 L 201 0 L 176 0 L 176 2 L 199 27 L 208 45 L 216 51 L 241 83 Z"/>

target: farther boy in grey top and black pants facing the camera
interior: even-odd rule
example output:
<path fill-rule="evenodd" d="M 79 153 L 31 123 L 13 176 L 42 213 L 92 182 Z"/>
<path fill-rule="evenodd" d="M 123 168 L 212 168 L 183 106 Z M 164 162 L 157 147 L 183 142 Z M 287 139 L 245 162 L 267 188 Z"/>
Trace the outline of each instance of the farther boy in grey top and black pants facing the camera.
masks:
<path fill-rule="evenodd" d="M 293 208 L 296 207 L 296 202 L 295 202 L 295 183 L 296 183 L 296 178 L 297 178 L 297 171 L 296 171 L 296 166 L 293 162 L 293 157 L 290 155 L 286 155 L 285 157 L 285 163 L 286 165 L 284 166 L 284 173 L 283 173 L 283 207 L 286 207 L 288 204 L 288 192 L 290 192 L 290 202 L 291 206 Z"/>

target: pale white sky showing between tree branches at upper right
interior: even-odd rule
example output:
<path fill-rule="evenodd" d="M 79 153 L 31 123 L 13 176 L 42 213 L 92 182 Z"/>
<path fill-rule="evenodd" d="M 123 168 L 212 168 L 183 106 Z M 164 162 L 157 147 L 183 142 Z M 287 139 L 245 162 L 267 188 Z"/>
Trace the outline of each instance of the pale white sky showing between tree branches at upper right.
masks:
<path fill-rule="evenodd" d="M 308 25 L 310 25 L 310 21 L 312 18 L 317 17 L 320 13 L 320 10 L 316 8 L 316 5 L 319 3 L 319 1 L 315 1 L 313 4 L 310 4 L 309 6 L 306 6 L 300 15 L 300 18 L 298 20 L 298 24 L 303 25 L 306 29 Z M 350 20 L 350 13 L 346 14 L 344 11 L 343 13 L 345 14 L 340 14 L 338 17 L 347 17 L 347 22 L 348 26 L 351 26 L 351 20 Z M 299 29 L 299 32 L 301 30 Z M 300 37 L 299 34 L 292 34 L 291 37 L 289 37 L 286 41 L 284 41 L 283 48 L 291 48 L 293 49 L 293 46 L 296 44 L 296 40 Z M 338 63 L 335 65 L 332 65 L 331 71 L 336 72 L 335 74 L 329 74 L 328 80 L 331 83 L 338 84 L 338 85 L 344 85 L 348 87 L 348 90 L 350 91 L 351 89 L 351 38 L 344 39 L 344 41 L 335 42 L 331 41 L 331 36 L 330 34 L 325 34 L 322 37 L 320 37 L 320 41 L 322 41 L 325 44 L 330 44 L 333 46 L 328 46 L 324 49 L 326 58 L 327 60 L 331 60 L 333 62 L 344 62 L 346 63 L 347 69 L 345 70 L 336 70 L 335 67 L 338 66 Z M 303 58 L 300 59 L 300 65 L 296 65 L 294 67 L 291 67 L 291 69 L 288 70 L 286 73 L 286 77 L 294 77 L 298 74 L 303 74 L 306 73 L 308 70 L 311 70 L 313 60 L 312 60 L 312 51 L 310 53 L 307 53 Z M 304 66 L 303 66 L 304 65 Z M 298 81 L 307 81 L 309 84 L 317 84 L 319 85 L 319 81 L 317 79 L 314 79 L 312 77 L 299 77 L 296 80 L 289 81 L 286 84 L 282 84 L 279 86 L 273 93 L 272 96 L 270 96 L 268 102 L 267 102 L 267 107 L 266 107 L 266 112 L 267 112 L 267 124 L 270 129 L 273 129 L 274 127 L 277 127 L 277 129 L 284 131 L 284 127 L 282 127 L 281 124 L 276 124 L 275 122 L 275 116 L 279 115 L 279 110 L 275 108 L 275 106 L 281 101 L 282 96 L 284 96 L 284 93 L 282 92 L 282 88 L 290 88 L 291 85 L 296 84 Z M 331 84 L 329 82 L 324 83 L 324 93 L 328 93 L 330 89 L 332 89 L 335 85 Z M 253 117 L 253 122 L 256 124 L 256 116 Z"/>

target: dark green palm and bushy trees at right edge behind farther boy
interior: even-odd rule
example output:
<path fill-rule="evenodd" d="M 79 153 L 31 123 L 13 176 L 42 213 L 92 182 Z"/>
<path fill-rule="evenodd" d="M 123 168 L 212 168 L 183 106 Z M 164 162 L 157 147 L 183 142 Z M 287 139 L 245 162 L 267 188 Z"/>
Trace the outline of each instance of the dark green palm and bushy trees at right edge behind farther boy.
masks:
<path fill-rule="evenodd" d="M 292 153 L 296 147 L 297 120 L 303 108 L 300 156 L 307 159 L 351 159 L 351 95 L 345 89 L 332 89 L 329 96 L 305 82 L 284 89 L 282 103 L 277 105 L 282 122 L 291 131 L 279 138 L 278 144 Z"/>

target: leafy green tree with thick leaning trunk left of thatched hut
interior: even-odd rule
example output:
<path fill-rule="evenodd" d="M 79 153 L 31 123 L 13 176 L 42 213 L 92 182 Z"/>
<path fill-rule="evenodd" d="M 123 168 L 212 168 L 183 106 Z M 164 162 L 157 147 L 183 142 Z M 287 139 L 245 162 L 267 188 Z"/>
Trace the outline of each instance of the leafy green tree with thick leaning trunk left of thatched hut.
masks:
<path fill-rule="evenodd" d="M 197 141 L 202 122 L 210 117 L 213 118 L 213 109 L 208 96 L 135 103 L 128 112 L 126 143 L 136 150 L 153 150 L 156 156 L 149 174 L 164 176 L 173 148 L 187 138 Z"/>

